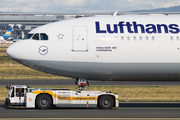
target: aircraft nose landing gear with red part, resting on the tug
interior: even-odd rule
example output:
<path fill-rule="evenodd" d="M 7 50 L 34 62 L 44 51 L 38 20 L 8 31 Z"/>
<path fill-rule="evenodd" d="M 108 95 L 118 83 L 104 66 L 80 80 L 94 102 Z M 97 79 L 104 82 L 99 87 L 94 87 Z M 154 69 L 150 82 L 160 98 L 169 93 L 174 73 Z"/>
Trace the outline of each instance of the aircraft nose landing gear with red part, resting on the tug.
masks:
<path fill-rule="evenodd" d="M 89 82 L 86 80 L 86 79 L 83 79 L 83 78 L 75 78 L 75 85 L 78 86 L 78 88 L 76 89 L 79 89 L 81 91 L 84 91 L 86 88 L 86 85 L 89 86 Z"/>

